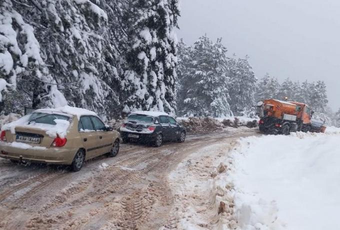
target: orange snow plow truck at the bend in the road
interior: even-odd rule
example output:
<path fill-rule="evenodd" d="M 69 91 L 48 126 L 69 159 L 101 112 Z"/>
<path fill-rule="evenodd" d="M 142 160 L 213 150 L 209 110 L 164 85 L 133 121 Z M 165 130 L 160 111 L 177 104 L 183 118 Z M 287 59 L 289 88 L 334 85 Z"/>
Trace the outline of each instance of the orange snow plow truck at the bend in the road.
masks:
<path fill-rule="evenodd" d="M 313 111 L 307 104 L 265 99 L 258 102 L 259 130 L 264 133 L 285 134 L 296 131 L 324 132 L 322 121 L 312 120 Z"/>

